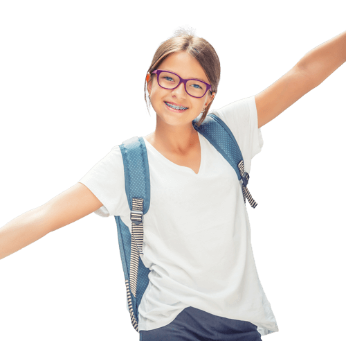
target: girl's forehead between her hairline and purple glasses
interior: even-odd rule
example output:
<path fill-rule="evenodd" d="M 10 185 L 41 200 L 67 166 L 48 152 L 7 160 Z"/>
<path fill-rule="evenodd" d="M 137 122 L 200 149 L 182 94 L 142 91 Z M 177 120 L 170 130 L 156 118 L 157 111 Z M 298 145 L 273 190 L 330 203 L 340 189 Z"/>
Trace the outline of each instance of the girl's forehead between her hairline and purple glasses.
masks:
<path fill-rule="evenodd" d="M 183 78 L 199 78 L 208 82 L 201 64 L 185 51 L 172 53 L 163 60 L 158 69 L 172 71 Z"/>

